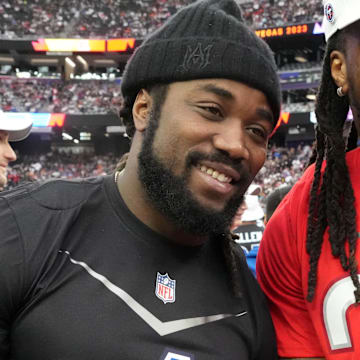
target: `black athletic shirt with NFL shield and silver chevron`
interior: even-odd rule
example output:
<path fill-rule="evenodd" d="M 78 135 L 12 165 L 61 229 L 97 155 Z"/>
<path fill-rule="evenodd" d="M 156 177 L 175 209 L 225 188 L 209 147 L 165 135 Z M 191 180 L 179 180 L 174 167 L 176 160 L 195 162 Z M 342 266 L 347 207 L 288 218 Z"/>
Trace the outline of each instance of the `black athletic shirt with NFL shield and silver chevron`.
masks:
<path fill-rule="evenodd" d="M 175 245 L 113 176 L 0 194 L 0 359 L 276 358 L 259 287 L 231 292 L 219 240 Z"/>

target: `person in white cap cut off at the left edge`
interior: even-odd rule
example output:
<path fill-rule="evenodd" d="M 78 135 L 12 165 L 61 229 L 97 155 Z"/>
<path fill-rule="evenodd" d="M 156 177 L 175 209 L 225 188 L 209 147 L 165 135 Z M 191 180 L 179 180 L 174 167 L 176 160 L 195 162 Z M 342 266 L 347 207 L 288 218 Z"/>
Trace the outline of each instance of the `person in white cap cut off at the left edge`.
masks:
<path fill-rule="evenodd" d="M 0 113 L 0 191 L 7 183 L 7 166 L 9 162 L 16 160 L 16 154 L 9 141 L 20 141 L 25 139 L 32 127 L 29 119 L 9 120 Z"/>

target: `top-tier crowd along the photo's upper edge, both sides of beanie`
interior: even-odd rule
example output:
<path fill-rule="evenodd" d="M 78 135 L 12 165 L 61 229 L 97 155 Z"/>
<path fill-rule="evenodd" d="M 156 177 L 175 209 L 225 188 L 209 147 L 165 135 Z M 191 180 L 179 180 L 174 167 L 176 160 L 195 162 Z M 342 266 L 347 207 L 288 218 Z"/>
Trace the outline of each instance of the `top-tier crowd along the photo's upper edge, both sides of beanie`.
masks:
<path fill-rule="evenodd" d="M 194 0 L 3 0 L 0 37 L 136 37 L 158 28 Z M 318 0 L 254 0 L 241 3 L 254 29 L 320 21 Z"/>

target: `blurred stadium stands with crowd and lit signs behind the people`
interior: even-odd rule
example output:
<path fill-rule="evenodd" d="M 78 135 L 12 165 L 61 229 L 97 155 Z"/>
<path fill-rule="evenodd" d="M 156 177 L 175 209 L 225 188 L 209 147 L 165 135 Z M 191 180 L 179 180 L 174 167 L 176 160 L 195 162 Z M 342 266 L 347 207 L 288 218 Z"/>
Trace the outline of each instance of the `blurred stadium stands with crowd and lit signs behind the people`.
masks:
<path fill-rule="evenodd" d="M 191 0 L 2 0 L 1 116 L 31 116 L 9 188 L 24 181 L 109 173 L 129 148 L 118 117 L 121 75 L 142 39 Z M 324 53 L 320 0 L 238 0 L 272 48 L 283 113 L 256 178 L 264 195 L 300 176 L 314 139 Z"/>

